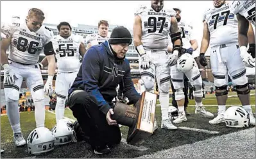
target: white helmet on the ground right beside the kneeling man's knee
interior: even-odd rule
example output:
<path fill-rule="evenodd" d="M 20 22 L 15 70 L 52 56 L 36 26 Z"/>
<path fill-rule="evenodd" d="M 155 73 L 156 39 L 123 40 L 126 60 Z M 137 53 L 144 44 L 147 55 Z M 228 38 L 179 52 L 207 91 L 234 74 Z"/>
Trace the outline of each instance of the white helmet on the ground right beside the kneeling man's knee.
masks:
<path fill-rule="evenodd" d="M 69 125 L 69 122 L 65 120 L 60 119 L 52 130 L 55 136 L 55 145 L 64 145 L 72 142 L 73 129 Z"/>

